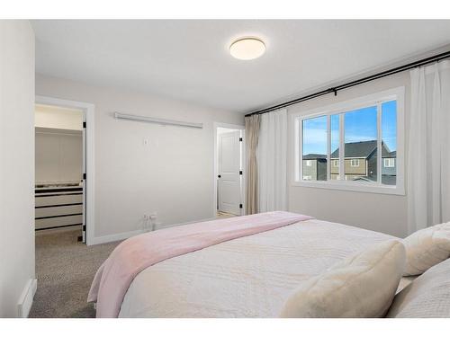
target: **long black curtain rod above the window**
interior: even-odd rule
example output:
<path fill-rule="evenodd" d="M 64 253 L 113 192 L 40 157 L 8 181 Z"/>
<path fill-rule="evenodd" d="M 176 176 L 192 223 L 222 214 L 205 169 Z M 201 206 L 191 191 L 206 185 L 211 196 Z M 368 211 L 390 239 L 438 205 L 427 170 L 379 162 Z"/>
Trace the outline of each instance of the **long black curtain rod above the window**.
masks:
<path fill-rule="evenodd" d="M 303 96 L 300 98 L 296 98 L 295 100 L 292 100 L 289 102 L 280 103 L 280 104 L 271 106 L 271 107 L 263 109 L 263 110 L 247 113 L 246 117 L 251 116 L 251 115 L 256 115 L 256 114 L 260 115 L 262 113 L 266 113 L 266 112 L 270 112 L 270 111 L 275 111 L 277 109 L 285 108 L 287 106 L 290 106 L 290 105 L 293 105 L 293 104 L 296 104 L 299 102 L 312 100 L 313 98 L 320 97 L 320 96 L 326 95 L 328 93 L 334 93 L 336 96 L 338 94 L 338 91 L 340 91 L 340 90 L 347 89 L 347 88 L 350 88 L 350 87 L 358 85 L 358 84 L 364 84 L 366 82 L 374 81 L 378 78 L 401 73 L 402 71 L 406 71 L 406 70 L 409 70 L 409 69 L 412 69 L 415 67 L 425 66 L 425 65 L 428 65 L 429 63 L 437 62 L 437 61 L 440 61 L 445 58 L 450 58 L 450 50 L 446 51 L 445 53 L 437 54 L 437 55 L 434 55 L 429 58 L 422 58 L 419 61 L 414 61 L 407 65 L 403 65 L 401 67 L 394 67 L 392 69 L 382 71 L 381 73 L 378 73 L 378 74 L 366 76 L 366 77 L 360 78 L 358 80 L 348 82 L 346 84 L 339 84 L 339 85 L 333 86 L 329 89 L 322 90 L 318 93 L 311 93 L 309 95 L 306 95 L 306 96 Z"/>

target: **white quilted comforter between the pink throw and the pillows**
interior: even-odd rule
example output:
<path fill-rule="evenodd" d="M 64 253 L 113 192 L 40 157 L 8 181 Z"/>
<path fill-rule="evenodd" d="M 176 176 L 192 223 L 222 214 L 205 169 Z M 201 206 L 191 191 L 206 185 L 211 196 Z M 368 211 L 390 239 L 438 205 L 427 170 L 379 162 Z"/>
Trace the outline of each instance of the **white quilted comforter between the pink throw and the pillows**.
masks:
<path fill-rule="evenodd" d="M 391 235 L 320 220 L 159 262 L 133 280 L 120 317 L 277 317 L 294 288 Z"/>

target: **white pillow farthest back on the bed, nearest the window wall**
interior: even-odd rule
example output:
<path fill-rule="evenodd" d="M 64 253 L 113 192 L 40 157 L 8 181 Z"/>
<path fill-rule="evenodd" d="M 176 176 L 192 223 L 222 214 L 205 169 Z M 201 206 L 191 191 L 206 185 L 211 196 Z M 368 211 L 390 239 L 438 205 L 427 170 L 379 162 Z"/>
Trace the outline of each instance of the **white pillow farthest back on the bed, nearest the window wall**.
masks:
<path fill-rule="evenodd" d="M 405 276 L 419 275 L 450 256 L 450 222 L 421 229 L 403 239 Z"/>

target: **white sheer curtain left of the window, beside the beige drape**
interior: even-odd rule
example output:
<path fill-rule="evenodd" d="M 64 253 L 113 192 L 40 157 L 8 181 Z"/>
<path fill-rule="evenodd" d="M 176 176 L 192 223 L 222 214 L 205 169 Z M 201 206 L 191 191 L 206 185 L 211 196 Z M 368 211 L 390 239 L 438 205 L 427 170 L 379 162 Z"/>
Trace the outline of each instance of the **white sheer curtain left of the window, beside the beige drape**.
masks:
<path fill-rule="evenodd" d="M 287 209 L 287 111 L 261 115 L 257 148 L 259 212 Z"/>

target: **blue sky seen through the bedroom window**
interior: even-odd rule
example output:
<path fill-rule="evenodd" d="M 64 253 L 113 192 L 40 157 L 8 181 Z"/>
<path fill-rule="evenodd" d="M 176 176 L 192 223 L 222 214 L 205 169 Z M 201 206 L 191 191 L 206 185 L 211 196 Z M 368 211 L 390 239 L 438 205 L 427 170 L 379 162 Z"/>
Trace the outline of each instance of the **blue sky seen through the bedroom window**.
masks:
<path fill-rule="evenodd" d="M 339 146 L 339 115 L 331 115 L 331 152 Z M 344 117 L 345 142 L 376 140 L 376 106 L 348 111 Z M 391 151 L 397 149 L 397 102 L 382 104 L 382 138 Z M 303 120 L 303 155 L 327 155 L 327 116 Z"/>

